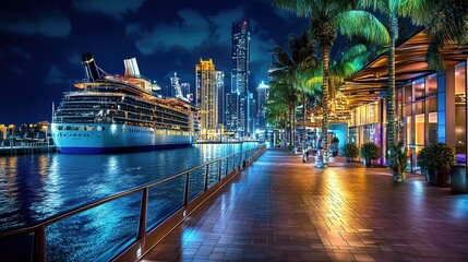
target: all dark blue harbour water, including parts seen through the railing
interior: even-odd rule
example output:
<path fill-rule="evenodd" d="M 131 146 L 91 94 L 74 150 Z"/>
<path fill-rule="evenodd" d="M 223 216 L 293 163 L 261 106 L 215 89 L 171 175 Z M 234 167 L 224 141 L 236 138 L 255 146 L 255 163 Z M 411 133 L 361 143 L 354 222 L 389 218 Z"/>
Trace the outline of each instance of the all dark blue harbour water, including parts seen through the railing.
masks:
<path fill-rule="evenodd" d="M 157 181 L 202 163 L 254 146 L 256 143 L 204 144 L 132 154 L 57 153 L 1 157 L 0 230 L 26 226 L 82 204 Z M 152 209 L 158 210 L 160 216 L 153 217 L 155 222 L 164 218 L 165 213 L 176 209 L 183 201 L 183 194 L 179 192 L 182 188 L 178 181 L 165 187 L 165 191 L 154 188 L 149 192 L 149 198 L 154 198 L 154 201 L 149 202 L 148 213 Z M 173 190 L 167 190 L 167 187 L 173 187 Z M 91 234 L 96 236 L 93 241 L 106 242 L 106 247 L 103 246 L 98 251 L 99 254 L 112 247 L 113 241 L 129 238 L 129 228 L 133 230 L 137 227 L 139 217 L 134 214 L 137 214 L 135 209 L 139 209 L 140 200 L 141 193 L 135 193 L 130 200 L 112 201 L 47 227 L 48 260 L 96 259 L 96 254 L 91 258 L 82 255 L 83 252 L 89 253 L 89 250 L 86 251 L 89 241 L 86 236 Z M 118 215 L 115 214 L 116 210 L 119 210 Z M 122 222 L 125 228 L 118 233 L 116 226 L 119 227 Z M 80 236 L 71 230 L 79 231 Z M 74 238 L 64 237 L 68 234 L 73 234 Z M 116 237 L 119 234 L 121 237 Z M 76 250 L 84 248 L 85 251 L 67 254 L 68 257 L 51 257 L 51 253 L 63 253 L 71 247 Z"/>

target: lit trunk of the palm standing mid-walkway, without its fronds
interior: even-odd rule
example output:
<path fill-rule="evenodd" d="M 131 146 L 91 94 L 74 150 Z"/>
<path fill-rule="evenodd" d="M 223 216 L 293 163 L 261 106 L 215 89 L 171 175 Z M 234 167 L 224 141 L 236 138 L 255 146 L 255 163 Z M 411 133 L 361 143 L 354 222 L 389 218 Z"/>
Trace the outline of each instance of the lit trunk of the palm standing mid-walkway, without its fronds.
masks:
<path fill-rule="evenodd" d="M 322 91 L 323 91 L 323 119 L 322 119 L 322 138 L 323 138 L 323 157 L 322 164 L 326 166 L 328 163 L 328 62 L 329 62 L 329 45 L 322 45 L 323 51 L 323 82 L 322 82 Z"/>

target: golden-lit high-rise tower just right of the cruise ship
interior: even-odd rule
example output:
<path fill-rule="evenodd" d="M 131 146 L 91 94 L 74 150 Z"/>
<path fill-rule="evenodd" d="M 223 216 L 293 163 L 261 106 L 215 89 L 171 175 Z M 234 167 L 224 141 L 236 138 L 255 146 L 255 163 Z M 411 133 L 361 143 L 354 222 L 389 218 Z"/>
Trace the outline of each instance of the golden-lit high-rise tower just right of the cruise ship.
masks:
<path fill-rule="evenodd" d="M 200 126 L 202 136 L 212 139 L 218 129 L 218 90 L 224 88 L 224 73 L 215 71 L 213 59 L 200 59 L 196 64 L 196 98 L 195 104 L 201 109 Z"/>

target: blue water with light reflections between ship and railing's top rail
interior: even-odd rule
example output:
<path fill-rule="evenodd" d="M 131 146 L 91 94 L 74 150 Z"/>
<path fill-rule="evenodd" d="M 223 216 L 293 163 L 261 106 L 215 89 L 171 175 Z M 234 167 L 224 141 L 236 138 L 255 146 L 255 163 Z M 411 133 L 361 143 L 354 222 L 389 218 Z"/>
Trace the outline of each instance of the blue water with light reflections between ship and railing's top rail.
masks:
<path fill-rule="evenodd" d="M 0 157 L 0 230 L 24 226 L 256 144 L 132 154 Z"/>

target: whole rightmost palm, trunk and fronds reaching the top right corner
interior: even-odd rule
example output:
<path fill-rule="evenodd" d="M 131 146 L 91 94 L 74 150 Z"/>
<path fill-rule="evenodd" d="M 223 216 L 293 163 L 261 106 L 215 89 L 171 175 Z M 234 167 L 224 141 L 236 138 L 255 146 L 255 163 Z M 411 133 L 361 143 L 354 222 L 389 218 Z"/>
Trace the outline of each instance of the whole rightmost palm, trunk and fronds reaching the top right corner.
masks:
<path fill-rule="evenodd" d="M 396 148 L 396 119 L 395 119 L 395 43 L 398 40 L 397 16 L 410 16 L 418 25 L 424 25 L 431 43 L 425 55 L 429 68 L 442 70 L 444 68 L 441 51 L 449 44 L 468 43 L 466 0 L 360 0 L 362 8 L 372 8 L 374 11 L 387 15 L 391 46 L 388 49 L 388 87 L 387 87 L 387 148 Z M 393 158 L 388 151 L 388 158 Z M 401 174 L 394 174 L 397 180 Z"/>

